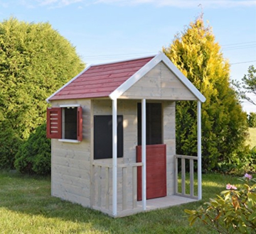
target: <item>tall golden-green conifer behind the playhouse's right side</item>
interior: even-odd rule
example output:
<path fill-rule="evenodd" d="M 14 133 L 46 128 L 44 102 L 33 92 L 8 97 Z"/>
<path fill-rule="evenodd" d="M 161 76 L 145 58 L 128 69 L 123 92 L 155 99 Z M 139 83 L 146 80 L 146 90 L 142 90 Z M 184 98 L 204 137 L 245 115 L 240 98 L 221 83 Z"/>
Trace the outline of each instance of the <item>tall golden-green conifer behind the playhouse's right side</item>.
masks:
<path fill-rule="evenodd" d="M 230 65 L 203 18 L 196 18 L 173 43 L 163 48 L 169 59 L 206 96 L 202 105 L 202 165 L 213 169 L 242 150 L 247 116 L 230 87 Z M 176 104 L 176 152 L 196 155 L 196 102 Z"/>

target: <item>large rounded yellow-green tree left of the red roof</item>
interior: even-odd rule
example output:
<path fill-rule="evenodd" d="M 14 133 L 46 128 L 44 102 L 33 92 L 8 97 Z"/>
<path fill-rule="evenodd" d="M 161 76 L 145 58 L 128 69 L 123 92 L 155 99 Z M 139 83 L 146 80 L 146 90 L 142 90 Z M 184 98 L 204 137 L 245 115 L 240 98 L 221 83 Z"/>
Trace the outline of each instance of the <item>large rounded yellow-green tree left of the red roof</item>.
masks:
<path fill-rule="evenodd" d="M 46 98 L 83 67 L 75 47 L 50 23 L 1 22 L 0 128 L 5 123 L 27 139 L 46 121 Z"/>

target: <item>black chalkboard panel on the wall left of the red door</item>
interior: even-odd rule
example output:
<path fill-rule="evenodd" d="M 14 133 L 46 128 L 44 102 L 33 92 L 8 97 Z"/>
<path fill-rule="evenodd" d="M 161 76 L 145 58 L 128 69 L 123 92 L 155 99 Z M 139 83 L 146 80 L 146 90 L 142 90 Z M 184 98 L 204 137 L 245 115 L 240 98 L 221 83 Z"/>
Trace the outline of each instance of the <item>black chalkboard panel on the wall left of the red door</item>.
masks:
<path fill-rule="evenodd" d="M 94 116 L 94 159 L 112 158 L 112 116 Z M 117 116 L 117 157 L 123 157 L 123 116 Z"/>

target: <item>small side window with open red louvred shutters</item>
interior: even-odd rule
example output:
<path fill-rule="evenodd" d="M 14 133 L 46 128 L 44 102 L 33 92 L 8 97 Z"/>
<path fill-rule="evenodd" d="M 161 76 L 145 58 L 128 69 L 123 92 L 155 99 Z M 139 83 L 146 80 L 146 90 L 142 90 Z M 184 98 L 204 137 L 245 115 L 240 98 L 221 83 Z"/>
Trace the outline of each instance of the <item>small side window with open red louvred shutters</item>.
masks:
<path fill-rule="evenodd" d="M 82 107 L 78 105 L 47 108 L 47 138 L 82 141 Z"/>

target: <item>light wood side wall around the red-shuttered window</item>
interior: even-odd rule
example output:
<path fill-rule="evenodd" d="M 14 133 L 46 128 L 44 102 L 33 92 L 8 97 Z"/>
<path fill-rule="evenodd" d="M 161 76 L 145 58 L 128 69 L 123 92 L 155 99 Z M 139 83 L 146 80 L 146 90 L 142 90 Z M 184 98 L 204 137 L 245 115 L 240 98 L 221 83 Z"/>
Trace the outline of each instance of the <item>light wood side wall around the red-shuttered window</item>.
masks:
<path fill-rule="evenodd" d="M 52 101 L 53 107 L 82 106 L 82 142 L 52 139 L 51 194 L 82 206 L 90 206 L 90 100 Z"/>

